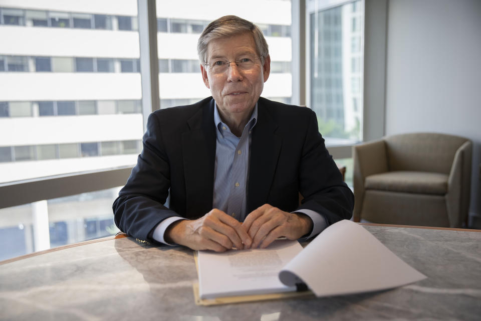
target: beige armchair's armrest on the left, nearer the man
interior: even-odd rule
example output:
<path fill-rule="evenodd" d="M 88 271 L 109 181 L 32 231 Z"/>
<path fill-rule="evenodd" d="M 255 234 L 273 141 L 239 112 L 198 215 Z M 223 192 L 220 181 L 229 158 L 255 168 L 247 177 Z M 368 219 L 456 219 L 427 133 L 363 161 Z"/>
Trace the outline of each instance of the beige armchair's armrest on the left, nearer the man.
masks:
<path fill-rule="evenodd" d="M 352 147 L 354 161 L 354 222 L 360 221 L 364 198 L 364 179 L 373 174 L 387 172 L 386 144 L 383 139 L 354 145 Z"/>

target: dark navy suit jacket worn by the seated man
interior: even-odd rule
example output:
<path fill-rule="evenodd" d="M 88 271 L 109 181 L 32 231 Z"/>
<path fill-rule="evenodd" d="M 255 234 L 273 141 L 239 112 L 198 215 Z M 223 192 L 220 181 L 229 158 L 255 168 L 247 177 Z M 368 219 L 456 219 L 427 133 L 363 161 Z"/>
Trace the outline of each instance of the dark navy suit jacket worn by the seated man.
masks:
<path fill-rule="evenodd" d="M 209 97 L 149 116 L 137 165 L 113 204 L 121 231 L 152 241 L 148 235 L 162 220 L 195 219 L 212 209 L 213 111 Z M 298 192 L 304 196 L 301 206 Z M 316 114 L 261 97 L 252 132 L 247 213 L 266 203 L 287 212 L 310 209 L 332 224 L 351 218 L 354 196 L 324 145 Z"/>

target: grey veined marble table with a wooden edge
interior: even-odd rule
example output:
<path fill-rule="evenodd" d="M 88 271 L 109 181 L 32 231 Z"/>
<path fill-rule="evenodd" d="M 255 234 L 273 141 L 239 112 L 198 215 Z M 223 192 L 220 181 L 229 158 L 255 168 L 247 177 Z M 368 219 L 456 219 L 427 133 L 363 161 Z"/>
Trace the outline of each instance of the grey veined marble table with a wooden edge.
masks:
<path fill-rule="evenodd" d="M 480 232 L 365 228 L 428 278 L 356 295 L 198 306 L 191 250 L 107 238 L 0 262 L 0 319 L 481 319 Z"/>

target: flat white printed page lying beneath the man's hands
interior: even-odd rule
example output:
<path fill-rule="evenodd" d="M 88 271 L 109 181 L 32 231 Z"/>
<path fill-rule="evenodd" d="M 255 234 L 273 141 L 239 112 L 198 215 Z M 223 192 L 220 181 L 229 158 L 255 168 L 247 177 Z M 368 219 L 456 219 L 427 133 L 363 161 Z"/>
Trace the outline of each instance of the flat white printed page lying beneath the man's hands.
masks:
<path fill-rule="evenodd" d="M 298 241 L 288 240 L 276 240 L 267 249 L 198 251 L 199 296 L 295 291 L 279 280 L 279 271 L 301 251 Z"/>

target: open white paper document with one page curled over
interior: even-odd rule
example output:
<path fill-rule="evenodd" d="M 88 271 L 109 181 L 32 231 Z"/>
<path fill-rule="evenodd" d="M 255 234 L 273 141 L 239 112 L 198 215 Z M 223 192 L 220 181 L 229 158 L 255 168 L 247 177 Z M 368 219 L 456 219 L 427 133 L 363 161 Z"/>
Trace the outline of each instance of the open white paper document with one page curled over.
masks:
<path fill-rule="evenodd" d="M 199 295 L 220 296 L 295 291 L 306 284 L 317 296 L 393 288 L 426 278 L 362 226 L 343 220 L 304 249 L 277 240 L 267 249 L 199 251 Z"/>

